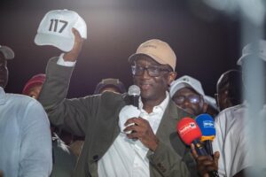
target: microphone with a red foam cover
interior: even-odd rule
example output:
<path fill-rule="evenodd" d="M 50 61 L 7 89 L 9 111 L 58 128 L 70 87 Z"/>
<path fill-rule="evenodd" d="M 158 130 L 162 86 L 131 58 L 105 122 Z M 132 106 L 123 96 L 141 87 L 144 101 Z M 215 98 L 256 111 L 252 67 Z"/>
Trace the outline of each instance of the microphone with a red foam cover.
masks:
<path fill-rule="evenodd" d="M 192 118 L 183 118 L 177 125 L 176 130 L 183 142 L 187 145 L 192 143 L 200 156 L 207 156 L 207 151 L 200 142 L 201 131 L 196 121 Z"/>

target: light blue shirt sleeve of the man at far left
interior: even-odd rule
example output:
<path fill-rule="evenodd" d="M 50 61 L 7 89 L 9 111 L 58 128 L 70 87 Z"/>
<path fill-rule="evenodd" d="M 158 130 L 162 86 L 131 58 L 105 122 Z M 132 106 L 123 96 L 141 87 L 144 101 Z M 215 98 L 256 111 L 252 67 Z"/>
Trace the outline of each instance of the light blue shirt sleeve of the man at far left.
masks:
<path fill-rule="evenodd" d="M 20 172 L 19 176 L 47 177 L 51 173 L 50 123 L 41 104 L 32 101 L 20 124 Z"/>

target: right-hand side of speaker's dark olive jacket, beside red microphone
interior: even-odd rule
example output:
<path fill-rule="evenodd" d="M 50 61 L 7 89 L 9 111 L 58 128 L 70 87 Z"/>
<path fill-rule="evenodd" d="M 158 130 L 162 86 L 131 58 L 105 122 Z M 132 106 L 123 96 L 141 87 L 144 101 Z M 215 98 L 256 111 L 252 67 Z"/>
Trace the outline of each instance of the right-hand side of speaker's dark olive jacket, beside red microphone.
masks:
<path fill-rule="evenodd" d="M 154 152 L 149 150 L 147 154 L 150 164 L 156 169 L 152 171 L 153 176 L 199 176 L 190 149 L 176 133 L 176 123 L 187 116 L 187 112 L 169 101 L 156 133 L 159 144 Z"/>

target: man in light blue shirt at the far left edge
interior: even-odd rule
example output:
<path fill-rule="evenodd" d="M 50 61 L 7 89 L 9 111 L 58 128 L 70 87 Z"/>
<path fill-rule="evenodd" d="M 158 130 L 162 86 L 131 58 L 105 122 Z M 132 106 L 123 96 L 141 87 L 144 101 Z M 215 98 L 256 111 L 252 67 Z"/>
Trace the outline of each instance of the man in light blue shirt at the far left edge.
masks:
<path fill-rule="evenodd" d="M 13 51 L 0 46 L 0 170 L 5 177 L 47 177 L 52 167 L 49 120 L 35 99 L 4 92 L 12 58 Z"/>

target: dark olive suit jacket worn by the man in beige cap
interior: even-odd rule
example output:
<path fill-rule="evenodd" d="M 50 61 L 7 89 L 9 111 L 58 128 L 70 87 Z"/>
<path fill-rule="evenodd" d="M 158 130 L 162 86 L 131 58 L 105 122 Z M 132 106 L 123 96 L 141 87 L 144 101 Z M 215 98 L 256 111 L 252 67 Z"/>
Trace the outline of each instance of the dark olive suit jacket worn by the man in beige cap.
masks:
<path fill-rule="evenodd" d="M 51 58 L 46 68 L 39 101 L 49 115 L 51 124 L 65 127 L 74 135 L 85 136 L 82 154 L 75 167 L 74 176 L 98 176 L 98 160 L 104 156 L 120 133 L 119 112 L 127 96 L 105 92 L 102 95 L 66 99 L 74 67 L 57 65 L 58 58 Z M 160 143 L 148 151 L 151 177 L 189 176 L 193 160 L 176 133 L 176 122 L 186 113 L 172 101 L 160 121 L 156 136 Z"/>

